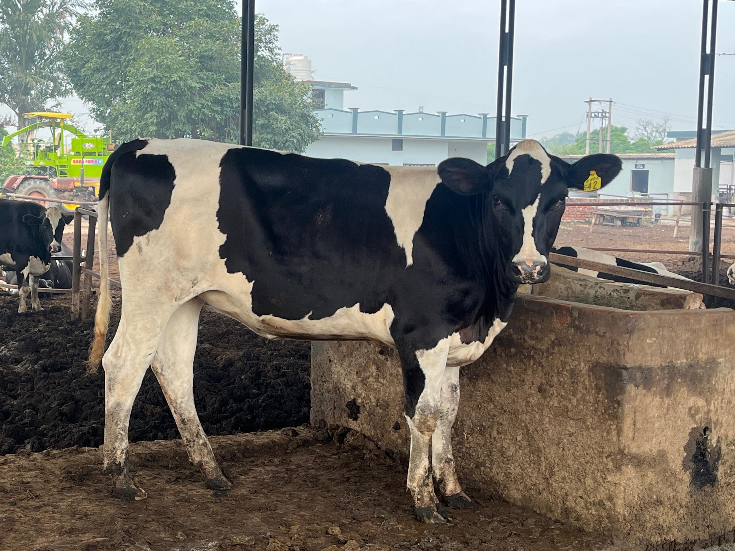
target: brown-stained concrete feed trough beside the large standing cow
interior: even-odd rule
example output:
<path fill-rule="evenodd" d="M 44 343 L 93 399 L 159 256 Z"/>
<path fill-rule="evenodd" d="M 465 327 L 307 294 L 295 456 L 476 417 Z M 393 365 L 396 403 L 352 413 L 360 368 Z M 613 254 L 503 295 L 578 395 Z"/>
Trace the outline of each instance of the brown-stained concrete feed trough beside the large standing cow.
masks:
<path fill-rule="evenodd" d="M 615 303 L 631 289 L 589 285 Z M 519 295 L 495 344 L 462 368 L 460 481 L 626 546 L 733 541 L 735 312 L 666 309 L 700 297 L 634 289 L 633 306 L 656 309 Z M 407 452 L 398 354 L 315 342 L 311 416 Z"/>

